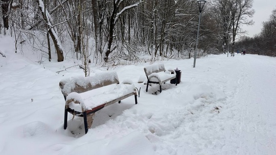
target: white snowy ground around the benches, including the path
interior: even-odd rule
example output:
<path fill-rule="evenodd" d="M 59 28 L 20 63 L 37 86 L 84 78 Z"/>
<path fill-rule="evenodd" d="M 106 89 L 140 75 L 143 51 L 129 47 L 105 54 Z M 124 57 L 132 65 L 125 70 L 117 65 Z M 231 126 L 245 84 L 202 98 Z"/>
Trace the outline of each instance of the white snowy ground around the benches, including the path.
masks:
<path fill-rule="evenodd" d="M 72 115 L 63 130 L 64 99 L 58 83 L 84 75 L 74 61 L 39 65 L 32 53 L 13 54 L 0 38 L 0 154 L 275 154 L 276 58 L 240 54 L 163 61 L 182 71 L 166 90 L 137 83 L 149 63 L 109 67 L 120 81 L 141 87 L 134 97 L 96 113 L 84 135 Z M 55 61 L 55 60 L 53 60 Z M 71 67 L 71 68 L 67 68 Z M 57 73 L 57 71 L 64 70 Z M 91 67 L 91 71 L 106 68 Z M 109 117 L 111 116 L 111 117 Z M 79 127 L 82 127 L 79 129 Z M 73 135 L 71 132 L 74 132 Z"/>

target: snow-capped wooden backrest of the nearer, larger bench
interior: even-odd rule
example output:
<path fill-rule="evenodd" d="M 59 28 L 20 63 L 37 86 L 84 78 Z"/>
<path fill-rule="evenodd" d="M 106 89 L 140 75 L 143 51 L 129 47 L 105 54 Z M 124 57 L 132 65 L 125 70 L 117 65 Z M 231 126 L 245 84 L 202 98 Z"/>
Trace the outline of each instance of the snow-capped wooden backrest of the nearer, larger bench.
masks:
<path fill-rule="evenodd" d="M 111 84 L 119 84 L 116 71 L 101 71 L 96 72 L 93 76 L 78 76 L 62 79 L 59 82 L 59 88 L 66 99 L 66 96 L 71 92 L 83 93 Z"/>

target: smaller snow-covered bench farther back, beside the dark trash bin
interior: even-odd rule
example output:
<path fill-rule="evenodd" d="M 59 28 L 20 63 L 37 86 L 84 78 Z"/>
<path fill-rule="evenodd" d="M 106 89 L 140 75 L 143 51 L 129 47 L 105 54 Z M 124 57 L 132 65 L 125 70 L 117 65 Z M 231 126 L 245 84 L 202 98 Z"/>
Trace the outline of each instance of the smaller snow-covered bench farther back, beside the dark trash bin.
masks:
<path fill-rule="evenodd" d="M 170 81 L 172 79 L 175 79 L 175 81 L 177 81 L 175 70 L 166 71 L 164 64 L 148 65 L 144 67 L 144 71 L 148 79 L 146 92 L 148 92 L 148 87 L 150 83 L 159 84 L 159 91 L 162 92 L 161 85 L 163 83 L 166 83 L 167 81 Z M 175 85 L 177 86 L 177 83 L 175 83 Z"/>

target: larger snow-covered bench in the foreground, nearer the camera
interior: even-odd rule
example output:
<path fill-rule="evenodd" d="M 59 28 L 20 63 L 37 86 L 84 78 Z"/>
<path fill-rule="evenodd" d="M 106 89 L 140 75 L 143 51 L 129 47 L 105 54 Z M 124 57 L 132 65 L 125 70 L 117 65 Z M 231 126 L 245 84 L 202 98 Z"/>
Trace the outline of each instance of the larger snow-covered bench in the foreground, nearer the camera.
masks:
<path fill-rule="evenodd" d="M 120 103 L 122 99 L 132 95 L 137 104 L 134 84 L 131 81 L 119 83 L 115 71 L 96 72 L 89 77 L 70 77 L 61 80 L 59 87 L 65 99 L 64 130 L 67 127 L 68 112 L 83 117 L 86 134 L 95 112 L 116 102 Z"/>

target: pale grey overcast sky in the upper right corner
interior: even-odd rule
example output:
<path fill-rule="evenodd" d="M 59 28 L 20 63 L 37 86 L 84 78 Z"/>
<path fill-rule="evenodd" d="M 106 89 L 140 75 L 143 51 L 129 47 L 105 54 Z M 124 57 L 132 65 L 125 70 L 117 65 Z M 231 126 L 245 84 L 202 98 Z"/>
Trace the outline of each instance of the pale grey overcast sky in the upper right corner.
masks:
<path fill-rule="evenodd" d="M 253 37 L 259 34 L 262 29 L 262 22 L 268 21 L 269 16 L 272 14 L 272 10 L 276 9 L 276 0 L 254 0 L 253 9 L 255 14 L 252 18 L 255 21 L 254 25 L 242 27 L 243 30 L 247 31 L 248 34 L 245 36 Z"/>

